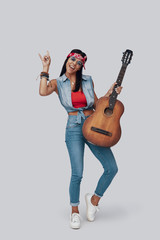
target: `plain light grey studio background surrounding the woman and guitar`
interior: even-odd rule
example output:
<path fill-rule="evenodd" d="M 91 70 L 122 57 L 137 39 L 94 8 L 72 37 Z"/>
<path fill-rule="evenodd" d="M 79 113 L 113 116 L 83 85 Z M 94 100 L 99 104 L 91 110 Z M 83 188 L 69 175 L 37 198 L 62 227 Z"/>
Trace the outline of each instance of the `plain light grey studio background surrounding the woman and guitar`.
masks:
<path fill-rule="evenodd" d="M 0 238 L 159 239 L 159 2 L 15 0 L 0 9 Z M 112 148 L 119 172 L 87 222 L 84 195 L 103 169 L 86 147 L 78 231 L 69 228 L 67 114 L 56 93 L 39 95 L 36 80 L 39 52 L 50 52 L 52 79 L 73 48 L 87 53 L 84 74 L 98 97 L 116 80 L 122 52 L 134 52 L 119 96 L 122 137 Z"/>

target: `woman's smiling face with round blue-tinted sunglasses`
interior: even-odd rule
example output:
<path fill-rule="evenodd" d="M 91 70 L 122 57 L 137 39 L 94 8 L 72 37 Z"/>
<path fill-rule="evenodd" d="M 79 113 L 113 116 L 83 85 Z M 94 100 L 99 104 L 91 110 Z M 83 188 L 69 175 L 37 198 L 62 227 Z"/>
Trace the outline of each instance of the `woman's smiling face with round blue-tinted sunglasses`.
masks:
<path fill-rule="evenodd" d="M 69 74 L 76 73 L 81 69 L 83 63 L 80 59 L 71 56 L 66 63 L 66 72 Z"/>

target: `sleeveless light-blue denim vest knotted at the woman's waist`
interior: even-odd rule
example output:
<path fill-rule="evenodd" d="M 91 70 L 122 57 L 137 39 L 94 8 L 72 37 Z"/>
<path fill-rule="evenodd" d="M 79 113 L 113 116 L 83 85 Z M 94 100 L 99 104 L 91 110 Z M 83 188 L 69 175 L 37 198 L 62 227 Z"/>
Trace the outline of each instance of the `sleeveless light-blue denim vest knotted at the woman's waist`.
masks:
<path fill-rule="evenodd" d="M 58 88 L 58 97 L 62 106 L 66 109 L 67 112 L 78 111 L 77 114 L 77 123 L 81 123 L 81 118 L 85 119 L 83 110 L 93 109 L 94 104 L 94 89 L 92 78 L 89 75 L 82 75 L 82 90 L 87 100 L 87 106 L 82 108 L 75 108 L 72 105 L 71 99 L 71 84 L 70 80 L 63 74 L 57 79 L 57 88 Z"/>

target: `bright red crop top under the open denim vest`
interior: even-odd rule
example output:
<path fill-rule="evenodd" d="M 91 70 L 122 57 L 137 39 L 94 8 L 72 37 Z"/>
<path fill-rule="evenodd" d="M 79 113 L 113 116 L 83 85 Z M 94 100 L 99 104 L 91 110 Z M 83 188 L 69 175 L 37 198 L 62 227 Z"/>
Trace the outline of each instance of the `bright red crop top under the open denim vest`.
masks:
<path fill-rule="evenodd" d="M 81 108 L 87 106 L 87 100 L 83 92 L 72 92 L 71 93 L 72 98 L 72 105 L 75 108 Z"/>

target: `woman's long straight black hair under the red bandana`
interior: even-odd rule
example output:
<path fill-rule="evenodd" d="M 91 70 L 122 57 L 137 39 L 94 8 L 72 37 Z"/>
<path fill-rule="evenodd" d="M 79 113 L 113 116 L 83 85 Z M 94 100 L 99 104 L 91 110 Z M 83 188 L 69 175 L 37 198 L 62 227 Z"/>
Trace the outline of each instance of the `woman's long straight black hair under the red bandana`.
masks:
<path fill-rule="evenodd" d="M 71 53 L 78 53 L 82 57 L 86 56 L 86 54 L 84 52 L 82 52 L 80 49 L 73 49 L 71 51 Z M 64 61 L 60 76 L 62 76 L 66 72 L 66 63 L 67 63 L 68 59 L 69 59 L 69 57 L 67 57 L 66 60 Z M 87 58 L 86 58 L 86 61 L 87 61 Z M 80 68 L 80 70 L 78 70 L 76 72 L 76 86 L 75 86 L 75 90 L 73 92 L 79 91 L 79 88 L 81 87 L 81 84 L 82 84 L 82 70 L 83 70 L 83 66 Z"/>

